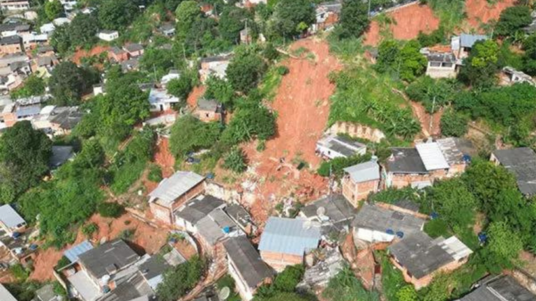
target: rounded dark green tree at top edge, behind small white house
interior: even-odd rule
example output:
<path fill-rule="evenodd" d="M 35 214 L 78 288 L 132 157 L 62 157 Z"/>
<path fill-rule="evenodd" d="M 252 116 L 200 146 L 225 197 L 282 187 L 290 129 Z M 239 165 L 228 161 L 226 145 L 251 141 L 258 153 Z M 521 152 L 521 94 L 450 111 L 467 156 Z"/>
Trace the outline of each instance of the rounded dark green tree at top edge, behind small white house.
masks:
<path fill-rule="evenodd" d="M 138 13 L 130 0 L 105 0 L 98 9 L 98 21 L 103 29 L 123 30 Z"/>

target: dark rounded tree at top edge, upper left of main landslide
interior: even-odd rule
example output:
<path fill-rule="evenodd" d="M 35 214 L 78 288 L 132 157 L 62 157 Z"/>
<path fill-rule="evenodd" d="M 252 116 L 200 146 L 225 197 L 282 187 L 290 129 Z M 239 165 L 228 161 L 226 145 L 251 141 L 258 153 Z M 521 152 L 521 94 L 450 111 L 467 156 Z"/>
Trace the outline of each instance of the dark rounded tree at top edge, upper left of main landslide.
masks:
<path fill-rule="evenodd" d="M 279 0 L 272 15 L 274 31 L 283 37 L 297 36 L 315 22 L 315 8 L 310 0 Z"/>

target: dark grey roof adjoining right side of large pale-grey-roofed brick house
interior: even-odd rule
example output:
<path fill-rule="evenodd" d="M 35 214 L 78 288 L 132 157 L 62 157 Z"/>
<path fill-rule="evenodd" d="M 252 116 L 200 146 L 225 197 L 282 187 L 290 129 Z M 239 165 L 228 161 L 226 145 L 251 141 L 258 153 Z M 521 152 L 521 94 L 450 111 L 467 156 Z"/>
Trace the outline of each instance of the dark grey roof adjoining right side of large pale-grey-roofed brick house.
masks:
<path fill-rule="evenodd" d="M 214 209 L 225 205 L 225 201 L 211 195 L 200 195 L 188 203 L 184 204 L 179 210 L 175 211 L 175 216 L 196 224 L 203 217 L 206 217 Z"/>

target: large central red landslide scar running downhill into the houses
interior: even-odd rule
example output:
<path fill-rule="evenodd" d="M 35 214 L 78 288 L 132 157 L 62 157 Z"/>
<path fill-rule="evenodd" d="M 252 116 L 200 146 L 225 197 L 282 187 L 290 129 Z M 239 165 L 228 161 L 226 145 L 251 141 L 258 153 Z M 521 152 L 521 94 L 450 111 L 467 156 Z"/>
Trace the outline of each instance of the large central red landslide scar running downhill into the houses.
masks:
<path fill-rule="evenodd" d="M 277 112 L 277 133 L 266 143 L 265 151 L 255 151 L 256 143 L 248 144 L 244 151 L 255 173 L 264 178 L 258 183 L 258 199 L 251 208 L 253 218 L 264 222 L 269 208 L 274 206 L 271 199 L 296 196 L 313 199 L 327 190 L 327 181 L 316 175 L 321 160 L 315 155 L 315 143 L 322 136 L 329 116 L 329 96 L 335 86 L 329 82 L 329 72 L 341 66 L 329 54 L 325 41 L 313 39 L 299 40 L 292 49 L 304 47 L 315 55 L 315 59 L 287 59 L 283 62 L 290 72 L 283 77 L 271 109 Z M 285 158 L 285 166 L 280 167 L 279 159 Z M 297 160 L 310 164 L 311 171 L 304 168 L 297 171 Z"/>

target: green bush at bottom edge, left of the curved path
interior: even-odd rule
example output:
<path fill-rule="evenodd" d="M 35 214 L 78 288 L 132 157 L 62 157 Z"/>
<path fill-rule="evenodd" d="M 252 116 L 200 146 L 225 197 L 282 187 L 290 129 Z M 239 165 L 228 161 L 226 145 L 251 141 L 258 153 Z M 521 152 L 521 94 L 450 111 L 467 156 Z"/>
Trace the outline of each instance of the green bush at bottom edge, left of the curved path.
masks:
<path fill-rule="evenodd" d="M 190 291 L 204 274 L 206 264 L 198 256 L 165 272 L 156 288 L 158 300 L 174 301 Z"/>

